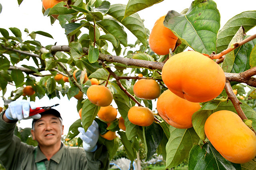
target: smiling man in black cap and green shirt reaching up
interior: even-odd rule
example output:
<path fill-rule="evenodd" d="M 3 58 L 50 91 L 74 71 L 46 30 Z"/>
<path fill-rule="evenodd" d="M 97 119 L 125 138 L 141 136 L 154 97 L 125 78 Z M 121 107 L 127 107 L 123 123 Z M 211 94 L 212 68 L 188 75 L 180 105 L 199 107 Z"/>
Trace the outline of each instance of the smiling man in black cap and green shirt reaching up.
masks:
<path fill-rule="evenodd" d="M 66 147 L 61 142 L 64 126 L 60 113 L 49 109 L 29 117 L 34 102 L 14 101 L 0 114 L 0 162 L 7 170 L 103 170 L 109 160 L 104 146 L 97 146 L 99 131 L 94 121 L 84 131 L 79 128 L 82 147 Z M 33 118 L 32 137 L 38 147 L 22 143 L 14 129 L 16 122 Z"/>

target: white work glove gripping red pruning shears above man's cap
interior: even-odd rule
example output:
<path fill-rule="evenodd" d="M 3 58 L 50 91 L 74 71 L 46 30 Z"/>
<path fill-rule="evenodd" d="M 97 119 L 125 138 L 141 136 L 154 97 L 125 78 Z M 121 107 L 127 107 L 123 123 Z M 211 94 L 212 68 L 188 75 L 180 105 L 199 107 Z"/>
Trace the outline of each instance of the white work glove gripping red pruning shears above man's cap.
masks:
<path fill-rule="evenodd" d="M 41 115 L 36 114 L 29 117 L 29 109 L 36 109 L 35 102 L 28 102 L 26 100 L 15 100 L 10 103 L 9 107 L 5 111 L 5 115 L 10 120 L 21 119 L 40 119 Z"/>

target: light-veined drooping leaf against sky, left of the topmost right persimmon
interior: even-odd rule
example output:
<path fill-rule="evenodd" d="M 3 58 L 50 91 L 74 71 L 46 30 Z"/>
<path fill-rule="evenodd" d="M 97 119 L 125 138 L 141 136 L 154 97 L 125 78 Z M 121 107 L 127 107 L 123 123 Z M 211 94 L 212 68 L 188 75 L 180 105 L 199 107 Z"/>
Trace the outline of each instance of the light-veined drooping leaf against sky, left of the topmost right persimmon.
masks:
<path fill-rule="evenodd" d="M 108 11 L 108 15 L 112 16 L 113 18 L 118 20 L 120 23 L 122 23 L 146 47 L 147 46 L 146 29 L 142 19 L 137 13 L 124 18 L 125 8 L 126 6 L 122 4 L 111 5 Z"/>

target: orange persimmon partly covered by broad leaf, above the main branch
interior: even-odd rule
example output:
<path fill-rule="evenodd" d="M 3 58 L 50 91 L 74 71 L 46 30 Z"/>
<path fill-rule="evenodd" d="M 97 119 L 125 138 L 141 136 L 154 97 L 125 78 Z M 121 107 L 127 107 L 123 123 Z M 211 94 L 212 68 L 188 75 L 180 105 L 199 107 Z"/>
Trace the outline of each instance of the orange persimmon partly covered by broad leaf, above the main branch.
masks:
<path fill-rule="evenodd" d="M 170 49 L 174 50 L 178 40 L 178 37 L 164 26 L 164 18 L 165 16 L 162 16 L 156 20 L 148 39 L 150 48 L 158 55 L 169 54 Z"/>

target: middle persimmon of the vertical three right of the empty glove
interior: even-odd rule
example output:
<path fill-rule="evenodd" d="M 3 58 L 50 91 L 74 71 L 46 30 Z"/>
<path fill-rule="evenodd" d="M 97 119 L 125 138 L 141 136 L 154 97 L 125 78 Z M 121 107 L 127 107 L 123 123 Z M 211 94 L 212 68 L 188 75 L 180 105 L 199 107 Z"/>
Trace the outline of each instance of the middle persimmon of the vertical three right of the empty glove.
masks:
<path fill-rule="evenodd" d="M 106 122 L 111 122 L 116 119 L 117 110 L 113 106 L 100 107 L 98 117 Z"/>

